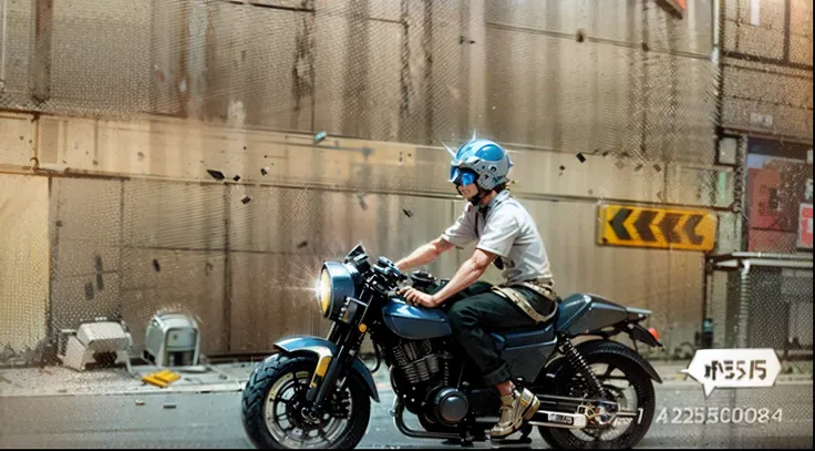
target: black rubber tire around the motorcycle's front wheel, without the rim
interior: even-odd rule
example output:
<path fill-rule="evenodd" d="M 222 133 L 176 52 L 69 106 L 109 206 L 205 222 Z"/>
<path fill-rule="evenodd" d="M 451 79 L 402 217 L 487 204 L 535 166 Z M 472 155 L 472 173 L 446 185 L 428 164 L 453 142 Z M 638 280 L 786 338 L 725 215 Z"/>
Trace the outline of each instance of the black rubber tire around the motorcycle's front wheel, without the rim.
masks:
<path fill-rule="evenodd" d="M 317 359 L 311 356 L 276 355 L 266 359 L 249 377 L 241 397 L 241 419 L 244 430 L 249 440 L 258 449 L 293 449 L 280 443 L 266 424 L 266 401 L 271 388 L 288 375 L 308 372 L 313 375 Z M 371 418 L 371 399 L 364 382 L 355 373 L 348 375 L 347 386 L 350 391 L 353 409 L 350 411 L 348 424 L 340 438 L 319 449 L 353 449 L 359 444 L 368 430 Z"/>

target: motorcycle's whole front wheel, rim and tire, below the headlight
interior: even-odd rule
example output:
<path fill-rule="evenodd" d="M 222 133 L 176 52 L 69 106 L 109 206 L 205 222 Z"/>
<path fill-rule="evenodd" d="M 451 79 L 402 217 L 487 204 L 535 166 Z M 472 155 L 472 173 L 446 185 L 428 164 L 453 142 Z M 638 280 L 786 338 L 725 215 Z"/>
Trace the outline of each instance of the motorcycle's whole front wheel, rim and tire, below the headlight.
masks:
<path fill-rule="evenodd" d="M 256 448 L 352 449 L 362 440 L 371 399 L 355 373 L 327 399 L 326 413 L 307 413 L 306 392 L 316 366 L 310 356 L 276 355 L 255 369 L 240 404 L 244 429 Z"/>

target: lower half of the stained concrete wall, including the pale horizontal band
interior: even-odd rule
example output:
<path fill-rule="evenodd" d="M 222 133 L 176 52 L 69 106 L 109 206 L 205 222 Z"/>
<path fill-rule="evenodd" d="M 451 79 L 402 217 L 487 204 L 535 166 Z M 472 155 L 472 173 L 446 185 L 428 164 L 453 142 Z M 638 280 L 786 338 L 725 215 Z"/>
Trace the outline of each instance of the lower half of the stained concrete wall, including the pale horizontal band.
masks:
<path fill-rule="evenodd" d="M 51 239 L 29 244 L 50 254 L 38 276 L 51 279 L 52 332 L 118 316 L 140 347 L 156 310 L 179 309 L 200 321 L 206 352 L 323 334 L 308 290 L 322 259 L 340 258 L 359 242 L 373 255 L 399 258 L 436 237 L 462 207 L 444 182 L 445 152 L 435 147 L 333 137 L 313 145 L 309 135 L 159 117 L 7 115 L 2 124 L 13 133 L 2 134 L 0 145 L 19 151 L 0 154 L 0 167 L 31 173 L 21 162 L 35 156 L 39 176 L 31 178 L 52 178 L 50 212 L 38 225 L 48 222 Z M 653 167 L 617 168 L 616 158 L 589 155 L 563 176 L 540 178 L 535 168 L 574 157 L 513 152 L 519 180 L 513 191 L 536 218 L 559 291 L 651 308 L 651 325 L 668 341 L 691 340 L 701 315 L 702 255 L 597 246 L 596 218 L 600 196 L 653 202 L 668 193 L 704 208 L 710 198 L 695 187 L 710 171 L 663 162 L 657 178 L 648 175 Z M 229 182 L 214 181 L 207 168 Z M 240 201 L 246 195 L 248 204 Z M 719 243 L 726 246 L 734 229 L 729 215 L 721 217 Z M 429 269 L 450 276 L 471 250 Z M 497 276 L 492 269 L 487 279 Z"/>

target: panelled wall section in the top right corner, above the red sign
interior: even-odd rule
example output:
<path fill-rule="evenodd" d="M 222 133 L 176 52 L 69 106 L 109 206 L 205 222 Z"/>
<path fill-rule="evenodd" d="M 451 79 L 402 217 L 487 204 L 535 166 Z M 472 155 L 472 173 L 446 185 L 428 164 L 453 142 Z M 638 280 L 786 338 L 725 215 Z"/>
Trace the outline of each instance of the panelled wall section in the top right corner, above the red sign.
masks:
<path fill-rule="evenodd" d="M 812 142 L 812 2 L 722 4 L 722 125 Z"/>

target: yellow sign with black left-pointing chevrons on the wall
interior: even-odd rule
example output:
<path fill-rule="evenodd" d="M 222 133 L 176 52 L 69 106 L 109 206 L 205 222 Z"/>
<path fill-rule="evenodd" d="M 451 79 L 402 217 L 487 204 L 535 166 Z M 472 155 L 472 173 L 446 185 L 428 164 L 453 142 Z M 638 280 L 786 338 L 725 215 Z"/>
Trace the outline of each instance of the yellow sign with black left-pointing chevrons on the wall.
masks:
<path fill-rule="evenodd" d="M 711 250 L 716 216 L 706 211 L 603 205 L 598 244 L 682 250 Z"/>

